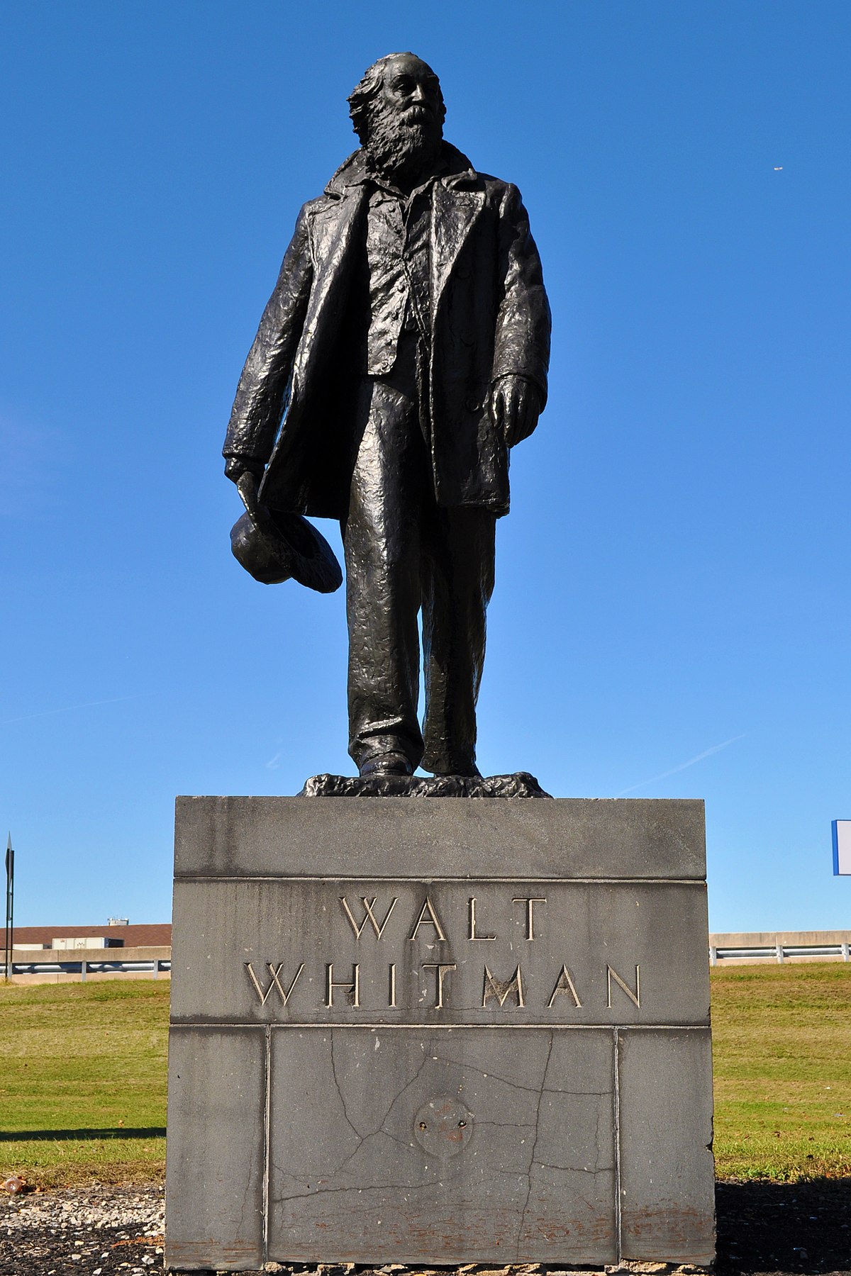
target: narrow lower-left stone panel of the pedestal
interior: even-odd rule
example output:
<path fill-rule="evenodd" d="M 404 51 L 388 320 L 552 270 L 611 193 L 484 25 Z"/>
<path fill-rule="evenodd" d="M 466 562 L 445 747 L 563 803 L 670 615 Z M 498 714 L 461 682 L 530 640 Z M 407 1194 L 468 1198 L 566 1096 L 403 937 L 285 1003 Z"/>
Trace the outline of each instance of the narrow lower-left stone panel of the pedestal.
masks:
<path fill-rule="evenodd" d="M 168 1267 L 245 1271 L 263 1262 L 264 1118 L 263 1030 L 171 1028 Z"/>

